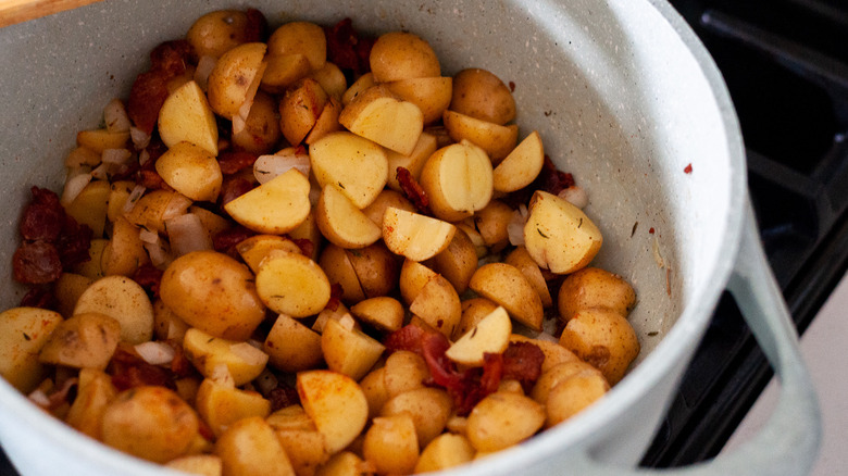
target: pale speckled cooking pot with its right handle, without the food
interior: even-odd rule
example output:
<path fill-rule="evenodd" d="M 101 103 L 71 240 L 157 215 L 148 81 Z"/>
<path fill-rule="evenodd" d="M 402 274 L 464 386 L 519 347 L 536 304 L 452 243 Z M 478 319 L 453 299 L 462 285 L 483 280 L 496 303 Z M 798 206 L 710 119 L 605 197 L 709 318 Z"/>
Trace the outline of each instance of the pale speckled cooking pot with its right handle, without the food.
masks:
<path fill-rule="evenodd" d="M 770 423 L 746 447 L 686 474 L 803 474 L 820 438 L 797 337 L 760 247 L 733 104 L 706 49 L 662 0 L 225 1 L 107 0 L 0 29 L 0 262 L 16 246 L 32 185 L 61 189 L 79 129 L 126 97 L 148 52 L 200 14 L 260 9 L 272 26 L 350 16 L 369 34 L 426 38 L 442 72 L 477 66 L 514 84 L 521 136 L 589 193 L 604 236 L 598 266 L 634 285 L 643 351 L 598 404 L 515 448 L 448 472 L 627 474 L 650 443 L 724 289 L 781 379 Z M 24 290 L 9 266 L 3 308 Z M 0 381 L 0 442 L 21 473 L 162 474 L 47 416 Z M 674 473 L 676 471 L 663 472 Z"/>

